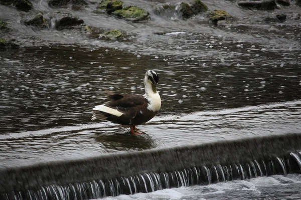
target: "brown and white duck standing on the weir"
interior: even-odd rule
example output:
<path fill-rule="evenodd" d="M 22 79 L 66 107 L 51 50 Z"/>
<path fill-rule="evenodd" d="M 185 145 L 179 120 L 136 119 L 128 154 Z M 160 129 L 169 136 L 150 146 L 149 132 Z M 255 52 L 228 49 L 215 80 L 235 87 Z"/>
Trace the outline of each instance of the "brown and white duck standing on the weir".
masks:
<path fill-rule="evenodd" d="M 161 97 L 156 88 L 158 82 L 159 75 L 154 70 L 147 70 L 143 78 L 145 88 L 143 95 L 119 94 L 105 89 L 105 95 L 110 101 L 92 108 L 92 120 L 108 120 L 129 125 L 130 134 L 143 134 L 136 125 L 152 119 L 161 108 Z"/>

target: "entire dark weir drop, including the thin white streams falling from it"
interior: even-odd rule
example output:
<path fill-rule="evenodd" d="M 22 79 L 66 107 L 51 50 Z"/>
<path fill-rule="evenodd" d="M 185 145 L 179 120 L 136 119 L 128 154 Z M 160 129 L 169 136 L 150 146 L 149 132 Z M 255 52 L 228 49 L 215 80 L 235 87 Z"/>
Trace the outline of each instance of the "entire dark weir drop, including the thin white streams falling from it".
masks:
<path fill-rule="evenodd" d="M 226 140 L 0 169 L 0 199 L 89 199 L 299 173 L 301 134 Z"/>

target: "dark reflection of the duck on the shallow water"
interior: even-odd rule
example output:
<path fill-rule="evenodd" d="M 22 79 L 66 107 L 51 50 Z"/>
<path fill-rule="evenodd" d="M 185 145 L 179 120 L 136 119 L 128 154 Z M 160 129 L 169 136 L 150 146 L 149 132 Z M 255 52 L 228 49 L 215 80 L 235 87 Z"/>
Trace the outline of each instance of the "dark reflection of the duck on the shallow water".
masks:
<path fill-rule="evenodd" d="M 156 141 L 148 134 L 132 135 L 130 132 L 98 133 L 96 141 L 113 150 L 133 151 L 155 148 Z"/>

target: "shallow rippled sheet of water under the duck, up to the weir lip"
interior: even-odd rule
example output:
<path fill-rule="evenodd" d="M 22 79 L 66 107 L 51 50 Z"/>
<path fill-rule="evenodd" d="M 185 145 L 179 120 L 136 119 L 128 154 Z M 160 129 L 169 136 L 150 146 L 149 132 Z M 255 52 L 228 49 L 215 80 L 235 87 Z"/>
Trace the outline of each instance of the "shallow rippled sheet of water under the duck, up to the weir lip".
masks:
<path fill-rule="evenodd" d="M 301 102 L 261 104 L 234 109 L 156 116 L 138 128 L 110 122 L 61 126 L 1 135 L 3 165 L 72 159 L 246 137 L 301 132 Z M 14 156 L 11 156 L 14 155 Z"/>

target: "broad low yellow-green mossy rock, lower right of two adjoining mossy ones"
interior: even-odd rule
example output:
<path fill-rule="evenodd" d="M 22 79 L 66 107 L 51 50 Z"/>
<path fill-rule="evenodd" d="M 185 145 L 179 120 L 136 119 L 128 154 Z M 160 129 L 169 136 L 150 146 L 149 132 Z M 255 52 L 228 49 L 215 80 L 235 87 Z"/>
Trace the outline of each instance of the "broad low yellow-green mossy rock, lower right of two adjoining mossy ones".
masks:
<path fill-rule="evenodd" d="M 117 17 L 130 21 L 141 21 L 149 17 L 149 13 L 137 6 L 128 6 L 112 12 Z"/>

